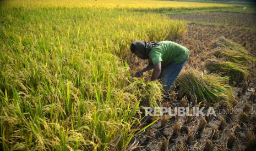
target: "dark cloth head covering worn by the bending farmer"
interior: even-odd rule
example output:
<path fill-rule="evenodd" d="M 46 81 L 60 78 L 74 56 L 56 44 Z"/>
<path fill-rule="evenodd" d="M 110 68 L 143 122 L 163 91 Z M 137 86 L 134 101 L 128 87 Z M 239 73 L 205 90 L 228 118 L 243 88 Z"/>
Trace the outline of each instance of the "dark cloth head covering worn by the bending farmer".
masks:
<path fill-rule="evenodd" d="M 149 59 L 149 52 L 150 50 L 157 46 L 160 45 L 161 42 L 145 42 L 145 41 L 135 41 L 132 44 L 130 44 L 130 51 L 132 53 L 135 53 L 135 49 L 137 49 L 142 55 L 143 58 L 141 59 Z"/>

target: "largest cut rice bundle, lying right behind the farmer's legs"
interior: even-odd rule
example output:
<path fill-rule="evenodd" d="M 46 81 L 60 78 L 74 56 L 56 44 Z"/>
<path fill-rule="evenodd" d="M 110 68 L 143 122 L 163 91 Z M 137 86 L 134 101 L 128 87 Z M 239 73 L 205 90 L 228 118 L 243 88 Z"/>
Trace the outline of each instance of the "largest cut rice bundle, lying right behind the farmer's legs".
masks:
<path fill-rule="evenodd" d="M 228 77 L 220 74 L 205 74 L 196 69 L 184 71 L 177 83 L 188 96 L 197 96 L 198 101 L 213 104 L 220 101 L 233 101 L 233 89 L 228 85 Z"/>

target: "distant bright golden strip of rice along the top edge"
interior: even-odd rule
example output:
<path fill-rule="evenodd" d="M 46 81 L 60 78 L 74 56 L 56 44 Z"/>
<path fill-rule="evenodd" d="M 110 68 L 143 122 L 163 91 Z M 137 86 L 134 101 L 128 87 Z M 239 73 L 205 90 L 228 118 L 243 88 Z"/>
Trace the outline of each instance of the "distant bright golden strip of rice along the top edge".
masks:
<path fill-rule="evenodd" d="M 152 0 L 140 0 L 140 1 L 114 1 L 114 0 L 98 0 L 98 1 L 12 1 L 15 7 L 20 5 L 30 5 L 34 7 L 78 7 L 78 8 L 108 8 L 108 9 L 193 9 L 193 8 L 216 8 L 216 7 L 234 7 L 241 6 L 238 4 L 218 4 L 218 3 L 198 3 L 198 2 L 174 2 L 174 1 L 152 1 Z"/>

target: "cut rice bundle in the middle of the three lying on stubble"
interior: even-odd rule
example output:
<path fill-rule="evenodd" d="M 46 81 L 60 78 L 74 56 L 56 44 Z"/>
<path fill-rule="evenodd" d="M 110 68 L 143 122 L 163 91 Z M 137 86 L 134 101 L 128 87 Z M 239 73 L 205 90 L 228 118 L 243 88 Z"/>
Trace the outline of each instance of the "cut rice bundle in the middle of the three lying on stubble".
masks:
<path fill-rule="evenodd" d="M 246 80 L 249 72 L 247 68 L 241 64 L 233 63 L 233 62 L 222 62 L 222 61 L 213 61 L 209 60 L 205 64 L 206 69 L 210 72 L 214 73 L 223 73 L 230 77 L 230 82 L 233 83 L 241 83 Z"/>

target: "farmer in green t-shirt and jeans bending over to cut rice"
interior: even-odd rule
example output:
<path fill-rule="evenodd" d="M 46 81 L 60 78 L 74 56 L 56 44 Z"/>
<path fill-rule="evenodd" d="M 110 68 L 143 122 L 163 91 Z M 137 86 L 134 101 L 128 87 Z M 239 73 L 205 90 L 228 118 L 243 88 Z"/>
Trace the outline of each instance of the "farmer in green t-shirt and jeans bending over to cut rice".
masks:
<path fill-rule="evenodd" d="M 135 41 L 130 44 L 130 51 L 140 59 L 148 59 L 148 66 L 137 71 L 134 76 L 140 77 L 144 72 L 154 69 L 151 81 L 161 79 L 166 93 L 189 56 L 189 50 L 186 47 L 171 41 L 149 43 Z"/>

